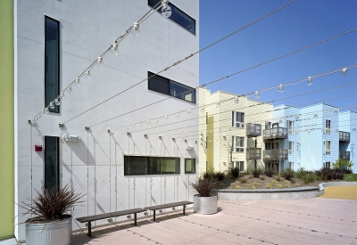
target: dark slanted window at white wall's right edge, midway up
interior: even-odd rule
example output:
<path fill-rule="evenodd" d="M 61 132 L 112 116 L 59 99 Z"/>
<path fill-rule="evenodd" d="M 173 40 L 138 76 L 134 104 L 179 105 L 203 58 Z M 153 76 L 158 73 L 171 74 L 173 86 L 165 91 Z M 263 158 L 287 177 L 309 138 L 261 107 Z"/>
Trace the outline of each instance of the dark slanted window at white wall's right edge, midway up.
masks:
<path fill-rule="evenodd" d="M 154 73 L 148 72 L 148 88 L 156 92 L 167 94 L 187 102 L 195 103 L 195 88 L 185 86 L 161 76 L 154 76 Z M 153 77 L 153 78 L 151 78 Z"/>

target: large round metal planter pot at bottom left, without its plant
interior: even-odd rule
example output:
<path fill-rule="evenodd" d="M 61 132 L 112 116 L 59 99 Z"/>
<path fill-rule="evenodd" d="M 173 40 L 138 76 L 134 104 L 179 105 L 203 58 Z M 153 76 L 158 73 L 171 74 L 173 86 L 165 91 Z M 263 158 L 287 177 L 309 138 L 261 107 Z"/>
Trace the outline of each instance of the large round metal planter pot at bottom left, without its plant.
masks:
<path fill-rule="evenodd" d="M 46 224 L 26 223 L 26 245 L 70 245 L 72 217 Z"/>

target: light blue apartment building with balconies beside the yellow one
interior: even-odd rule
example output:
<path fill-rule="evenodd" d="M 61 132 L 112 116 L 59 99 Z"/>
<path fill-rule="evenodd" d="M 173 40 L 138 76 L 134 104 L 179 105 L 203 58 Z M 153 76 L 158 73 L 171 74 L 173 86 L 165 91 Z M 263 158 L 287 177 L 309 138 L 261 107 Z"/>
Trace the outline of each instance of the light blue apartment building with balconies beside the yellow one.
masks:
<path fill-rule="evenodd" d="M 263 130 L 265 167 L 312 170 L 331 167 L 337 159 L 349 159 L 355 162 L 356 173 L 356 124 L 356 112 L 339 112 L 324 103 L 303 108 L 275 106 Z"/>

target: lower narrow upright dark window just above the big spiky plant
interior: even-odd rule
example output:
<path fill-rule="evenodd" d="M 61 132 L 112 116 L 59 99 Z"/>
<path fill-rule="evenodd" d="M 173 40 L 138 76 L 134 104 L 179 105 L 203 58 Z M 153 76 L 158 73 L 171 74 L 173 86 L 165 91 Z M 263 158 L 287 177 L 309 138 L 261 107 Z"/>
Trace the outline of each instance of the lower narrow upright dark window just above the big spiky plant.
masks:
<path fill-rule="evenodd" d="M 45 188 L 58 190 L 60 186 L 60 160 L 58 137 L 45 136 Z"/>

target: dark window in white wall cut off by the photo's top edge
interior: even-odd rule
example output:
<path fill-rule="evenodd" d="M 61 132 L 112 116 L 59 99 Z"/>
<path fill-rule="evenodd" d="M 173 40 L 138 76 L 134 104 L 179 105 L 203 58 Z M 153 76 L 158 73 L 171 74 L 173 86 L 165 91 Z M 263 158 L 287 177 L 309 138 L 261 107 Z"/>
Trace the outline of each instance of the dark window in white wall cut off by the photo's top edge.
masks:
<path fill-rule="evenodd" d="M 161 0 L 148 0 L 148 4 L 149 4 L 149 6 L 154 8 L 154 6 L 156 4 L 158 4 L 160 1 Z M 171 8 L 171 16 L 169 17 L 169 19 L 175 21 L 184 29 L 187 29 L 188 31 L 195 34 L 195 20 L 193 18 L 191 18 L 190 16 L 188 16 L 186 12 L 183 12 L 182 10 L 180 10 L 174 4 L 169 3 L 169 5 Z M 162 12 L 162 9 L 159 8 L 157 11 Z"/>

